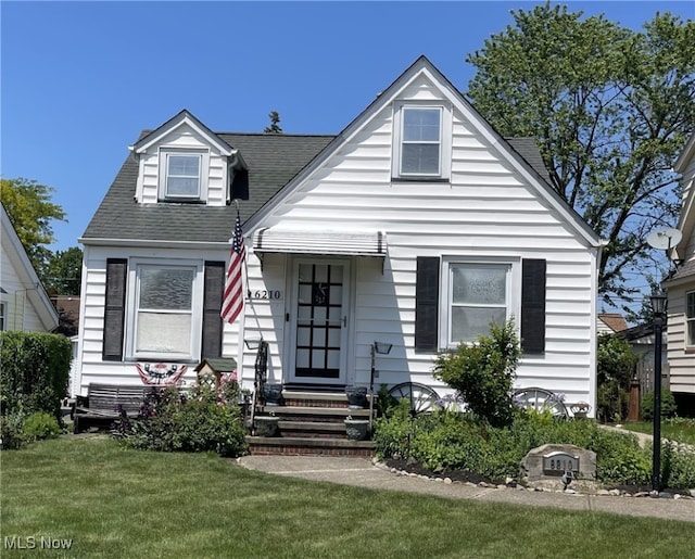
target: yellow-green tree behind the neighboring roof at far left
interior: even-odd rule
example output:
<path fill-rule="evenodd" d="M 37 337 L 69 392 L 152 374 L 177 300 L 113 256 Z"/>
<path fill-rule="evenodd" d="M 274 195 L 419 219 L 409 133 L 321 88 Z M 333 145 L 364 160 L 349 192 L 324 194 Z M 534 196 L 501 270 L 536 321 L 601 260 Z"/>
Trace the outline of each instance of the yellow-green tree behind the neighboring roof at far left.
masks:
<path fill-rule="evenodd" d="M 25 178 L 0 179 L 0 199 L 31 265 L 43 280 L 55 242 L 51 220 L 65 221 L 63 208 L 51 202 L 55 189 Z"/>

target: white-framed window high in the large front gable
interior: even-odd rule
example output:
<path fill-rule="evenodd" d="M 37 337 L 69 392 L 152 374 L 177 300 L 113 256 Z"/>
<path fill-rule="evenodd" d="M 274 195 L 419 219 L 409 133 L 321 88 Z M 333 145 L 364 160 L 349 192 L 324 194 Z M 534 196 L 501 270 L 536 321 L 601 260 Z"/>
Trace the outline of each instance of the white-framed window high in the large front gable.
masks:
<path fill-rule="evenodd" d="M 405 104 L 395 107 L 393 177 L 410 180 L 448 178 L 451 111 L 441 105 Z"/>

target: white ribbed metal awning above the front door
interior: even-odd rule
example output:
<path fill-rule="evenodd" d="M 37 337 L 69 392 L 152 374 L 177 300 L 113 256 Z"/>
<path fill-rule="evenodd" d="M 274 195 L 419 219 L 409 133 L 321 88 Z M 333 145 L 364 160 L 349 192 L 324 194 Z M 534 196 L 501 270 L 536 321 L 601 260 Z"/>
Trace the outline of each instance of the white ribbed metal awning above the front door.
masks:
<path fill-rule="evenodd" d="M 261 229 L 253 236 L 255 253 L 325 254 L 386 257 L 387 237 L 382 231 L 311 231 Z"/>

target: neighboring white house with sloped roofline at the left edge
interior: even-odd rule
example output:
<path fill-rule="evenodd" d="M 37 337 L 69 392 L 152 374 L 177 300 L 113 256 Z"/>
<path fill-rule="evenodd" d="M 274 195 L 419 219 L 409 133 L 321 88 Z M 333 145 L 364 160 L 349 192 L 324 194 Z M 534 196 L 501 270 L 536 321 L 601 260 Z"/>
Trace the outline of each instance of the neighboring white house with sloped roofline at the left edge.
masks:
<path fill-rule="evenodd" d="M 59 317 L 43 284 L 0 204 L 2 261 L 0 267 L 0 330 L 51 332 Z"/>

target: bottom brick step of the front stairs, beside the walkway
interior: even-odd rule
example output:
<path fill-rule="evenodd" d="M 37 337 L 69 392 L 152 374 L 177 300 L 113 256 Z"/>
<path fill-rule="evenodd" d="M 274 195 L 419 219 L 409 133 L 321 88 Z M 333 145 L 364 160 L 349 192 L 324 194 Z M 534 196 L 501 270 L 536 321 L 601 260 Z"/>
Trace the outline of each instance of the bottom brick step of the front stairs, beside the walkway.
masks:
<path fill-rule="evenodd" d="M 374 455 L 374 441 L 304 436 L 247 436 L 252 455 L 362 456 Z"/>

